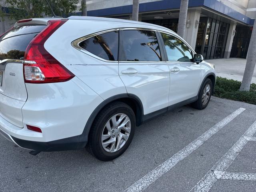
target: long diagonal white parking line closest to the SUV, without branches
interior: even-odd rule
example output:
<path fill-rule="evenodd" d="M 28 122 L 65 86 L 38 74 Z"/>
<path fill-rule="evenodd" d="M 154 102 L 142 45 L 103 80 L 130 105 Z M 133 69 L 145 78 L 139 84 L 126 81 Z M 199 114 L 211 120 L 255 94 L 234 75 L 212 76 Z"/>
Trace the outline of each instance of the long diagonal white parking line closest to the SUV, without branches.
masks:
<path fill-rule="evenodd" d="M 201 146 L 206 140 L 208 140 L 211 136 L 213 136 L 216 132 L 218 132 L 221 128 L 223 128 L 226 124 L 236 118 L 240 113 L 242 113 L 245 109 L 239 108 L 234 111 L 232 114 L 224 118 L 222 121 L 218 122 L 208 131 L 204 132 L 200 137 L 196 140 L 192 141 L 178 153 L 174 154 L 171 158 L 160 164 L 154 170 L 150 171 L 140 180 L 136 181 L 132 186 L 127 188 L 126 192 L 136 192 L 142 191 L 146 189 L 150 184 L 155 182 L 158 178 L 160 178 L 163 174 L 171 170 L 178 162 L 186 158 L 189 154 L 191 154 L 194 150 L 196 150 L 199 146 Z"/>

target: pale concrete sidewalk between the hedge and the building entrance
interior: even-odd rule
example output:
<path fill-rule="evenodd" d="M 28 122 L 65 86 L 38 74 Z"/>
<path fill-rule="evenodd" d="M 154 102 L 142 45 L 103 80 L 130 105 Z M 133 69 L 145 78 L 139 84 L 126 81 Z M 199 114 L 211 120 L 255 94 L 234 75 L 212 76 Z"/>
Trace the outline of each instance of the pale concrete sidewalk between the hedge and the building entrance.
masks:
<path fill-rule="evenodd" d="M 246 65 L 246 59 L 229 58 L 211 59 L 206 61 L 215 64 L 217 76 L 242 81 Z M 254 74 L 252 76 L 252 83 L 256 83 L 256 68 L 254 69 Z"/>

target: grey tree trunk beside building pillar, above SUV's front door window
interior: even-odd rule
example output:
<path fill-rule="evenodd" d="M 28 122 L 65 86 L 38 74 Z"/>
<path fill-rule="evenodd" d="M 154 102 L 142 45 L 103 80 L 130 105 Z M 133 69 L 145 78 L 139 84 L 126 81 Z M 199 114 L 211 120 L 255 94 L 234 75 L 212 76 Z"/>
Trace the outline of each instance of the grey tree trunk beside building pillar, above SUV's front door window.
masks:
<path fill-rule="evenodd" d="M 185 36 L 187 13 L 188 13 L 188 0 L 181 0 L 177 33 L 182 38 L 184 38 Z"/>

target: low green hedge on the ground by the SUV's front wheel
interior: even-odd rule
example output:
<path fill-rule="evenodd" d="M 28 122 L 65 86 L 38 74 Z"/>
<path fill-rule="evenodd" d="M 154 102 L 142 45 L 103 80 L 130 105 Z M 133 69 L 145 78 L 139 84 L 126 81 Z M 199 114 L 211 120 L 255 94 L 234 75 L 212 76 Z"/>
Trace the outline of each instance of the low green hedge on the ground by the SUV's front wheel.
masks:
<path fill-rule="evenodd" d="M 239 91 L 240 86 L 240 81 L 217 77 L 214 96 L 256 105 L 256 84 L 251 84 L 250 92 Z"/>

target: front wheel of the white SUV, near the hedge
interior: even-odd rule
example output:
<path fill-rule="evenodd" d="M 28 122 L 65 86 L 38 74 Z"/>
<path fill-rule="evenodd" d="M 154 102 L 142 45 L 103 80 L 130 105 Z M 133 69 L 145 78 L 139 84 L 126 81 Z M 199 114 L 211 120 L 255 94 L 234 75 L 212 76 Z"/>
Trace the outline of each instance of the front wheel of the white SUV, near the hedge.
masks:
<path fill-rule="evenodd" d="M 211 95 L 212 81 L 209 78 L 206 78 L 198 94 L 198 100 L 192 103 L 192 106 L 199 110 L 206 108 L 210 101 Z"/>

